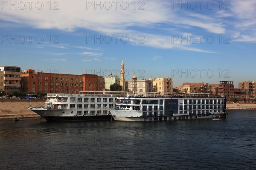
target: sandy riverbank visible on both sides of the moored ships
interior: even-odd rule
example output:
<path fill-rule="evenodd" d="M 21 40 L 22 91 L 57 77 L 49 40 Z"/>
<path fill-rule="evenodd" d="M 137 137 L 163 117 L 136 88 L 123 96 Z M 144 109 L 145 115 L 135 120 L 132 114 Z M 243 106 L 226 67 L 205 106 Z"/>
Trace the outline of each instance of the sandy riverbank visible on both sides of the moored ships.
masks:
<path fill-rule="evenodd" d="M 12 102 L 8 99 L 0 102 L 0 119 L 10 119 L 15 117 L 40 117 L 35 112 L 28 109 L 29 106 L 41 107 L 45 105 L 43 100 L 38 101 L 27 101 L 27 100 L 13 100 Z M 256 103 L 254 104 L 236 104 L 227 103 L 227 110 L 237 109 L 256 109 Z"/>

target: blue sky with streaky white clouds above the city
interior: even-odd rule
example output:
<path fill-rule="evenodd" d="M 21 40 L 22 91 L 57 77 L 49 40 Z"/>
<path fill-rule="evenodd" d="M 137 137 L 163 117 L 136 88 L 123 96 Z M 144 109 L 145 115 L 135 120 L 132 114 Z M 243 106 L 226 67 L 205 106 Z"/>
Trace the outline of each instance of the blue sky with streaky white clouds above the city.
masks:
<path fill-rule="evenodd" d="M 256 80 L 256 0 L 0 0 L 0 35 L 22 70 Z"/>

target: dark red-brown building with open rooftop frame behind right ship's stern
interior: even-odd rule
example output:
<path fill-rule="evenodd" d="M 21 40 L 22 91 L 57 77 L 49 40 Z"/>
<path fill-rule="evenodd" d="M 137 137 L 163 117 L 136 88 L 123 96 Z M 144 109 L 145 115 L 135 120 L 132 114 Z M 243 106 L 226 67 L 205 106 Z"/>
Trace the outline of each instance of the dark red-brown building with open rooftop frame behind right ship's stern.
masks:
<path fill-rule="evenodd" d="M 232 81 L 219 81 L 218 95 L 226 96 L 227 99 L 234 97 L 234 85 Z"/>

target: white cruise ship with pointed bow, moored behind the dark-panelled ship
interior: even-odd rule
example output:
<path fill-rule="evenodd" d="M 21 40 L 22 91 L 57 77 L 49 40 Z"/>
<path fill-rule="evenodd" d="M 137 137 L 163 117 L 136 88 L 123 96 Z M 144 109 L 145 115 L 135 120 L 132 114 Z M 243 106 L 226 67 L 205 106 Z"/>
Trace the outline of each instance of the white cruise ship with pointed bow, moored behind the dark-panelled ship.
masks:
<path fill-rule="evenodd" d="M 80 94 L 47 94 L 44 107 L 29 107 L 47 121 L 111 120 L 109 109 L 125 92 L 81 91 Z"/>

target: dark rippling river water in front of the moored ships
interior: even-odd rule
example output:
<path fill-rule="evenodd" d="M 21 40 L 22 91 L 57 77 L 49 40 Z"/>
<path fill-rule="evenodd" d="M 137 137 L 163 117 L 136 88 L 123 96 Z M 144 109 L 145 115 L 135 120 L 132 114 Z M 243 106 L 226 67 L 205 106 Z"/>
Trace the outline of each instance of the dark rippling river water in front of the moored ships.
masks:
<path fill-rule="evenodd" d="M 256 111 L 165 122 L 0 120 L 0 168 L 256 169 Z"/>

